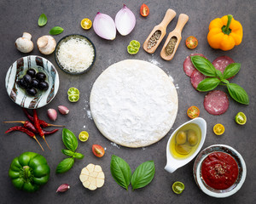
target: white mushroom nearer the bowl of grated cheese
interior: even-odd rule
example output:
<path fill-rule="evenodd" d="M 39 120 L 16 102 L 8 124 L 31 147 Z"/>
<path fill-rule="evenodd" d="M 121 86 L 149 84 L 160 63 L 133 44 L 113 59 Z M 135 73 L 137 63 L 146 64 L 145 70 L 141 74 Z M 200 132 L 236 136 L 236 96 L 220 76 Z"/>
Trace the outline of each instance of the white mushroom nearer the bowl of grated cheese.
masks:
<path fill-rule="evenodd" d="M 43 36 L 38 38 L 38 49 L 41 54 L 52 54 L 55 51 L 55 38 Z"/>

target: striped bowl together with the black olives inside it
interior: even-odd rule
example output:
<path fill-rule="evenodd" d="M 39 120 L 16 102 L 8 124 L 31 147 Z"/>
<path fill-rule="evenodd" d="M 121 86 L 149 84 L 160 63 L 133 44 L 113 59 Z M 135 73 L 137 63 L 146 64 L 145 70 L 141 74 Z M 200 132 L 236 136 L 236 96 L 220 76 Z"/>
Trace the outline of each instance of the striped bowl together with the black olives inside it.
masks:
<path fill-rule="evenodd" d="M 26 56 L 9 67 L 5 85 L 9 97 L 24 108 L 40 108 L 54 99 L 59 89 L 55 66 L 39 56 Z"/>

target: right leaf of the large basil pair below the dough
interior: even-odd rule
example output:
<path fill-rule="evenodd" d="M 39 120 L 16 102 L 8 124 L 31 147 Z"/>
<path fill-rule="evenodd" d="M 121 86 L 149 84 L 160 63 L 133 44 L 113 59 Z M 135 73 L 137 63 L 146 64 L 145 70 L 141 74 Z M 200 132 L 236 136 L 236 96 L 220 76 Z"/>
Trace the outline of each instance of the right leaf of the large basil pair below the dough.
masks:
<path fill-rule="evenodd" d="M 154 178 L 154 161 L 142 163 L 131 176 L 132 190 L 145 187 Z"/>

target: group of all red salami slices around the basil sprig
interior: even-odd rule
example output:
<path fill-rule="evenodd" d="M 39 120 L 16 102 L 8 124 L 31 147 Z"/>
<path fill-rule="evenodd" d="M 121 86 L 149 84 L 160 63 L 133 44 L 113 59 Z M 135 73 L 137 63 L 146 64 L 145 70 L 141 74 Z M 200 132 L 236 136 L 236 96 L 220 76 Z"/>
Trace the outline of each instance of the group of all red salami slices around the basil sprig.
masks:
<path fill-rule="evenodd" d="M 185 74 L 190 77 L 190 82 L 196 90 L 198 84 L 207 78 L 207 76 L 203 75 L 200 71 L 197 71 L 195 66 L 192 64 L 190 56 L 195 55 L 199 55 L 207 59 L 207 57 L 203 54 L 190 54 L 183 62 L 183 70 Z M 230 65 L 231 63 L 235 63 L 233 59 L 228 56 L 221 56 L 214 59 L 212 65 L 223 73 L 226 66 Z M 231 78 L 233 77 L 230 77 L 228 80 Z M 224 114 L 224 112 L 228 110 L 229 104 L 230 102 L 227 94 L 220 90 L 209 92 L 204 99 L 204 107 L 206 111 L 215 116 Z"/>

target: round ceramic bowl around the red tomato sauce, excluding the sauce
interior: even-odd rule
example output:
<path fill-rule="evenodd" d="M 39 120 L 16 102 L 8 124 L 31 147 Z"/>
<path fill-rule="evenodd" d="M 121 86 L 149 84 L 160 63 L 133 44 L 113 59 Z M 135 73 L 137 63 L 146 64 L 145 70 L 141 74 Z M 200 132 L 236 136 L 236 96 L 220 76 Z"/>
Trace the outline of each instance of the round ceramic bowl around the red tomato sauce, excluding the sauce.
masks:
<path fill-rule="evenodd" d="M 238 166 L 239 171 L 238 171 L 238 177 L 236 178 L 236 182 L 226 190 L 212 189 L 210 186 L 208 186 L 204 182 L 203 178 L 201 177 L 202 161 L 204 161 L 204 159 L 209 154 L 216 151 L 221 151 L 232 156 L 235 159 Z M 237 192 L 237 190 L 240 190 L 247 175 L 247 167 L 241 155 L 234 148 L 224 144 L 214 144 L 212 146 L 207 147 L 205 150 L 202 150 L 201 153 L 196 157 L 194 167 L 193 167 L 193 173 L 194 173 L 195 183 L 204 193 L 212 197 L 224 198 L 224 197 L 233 195 Z"/>

